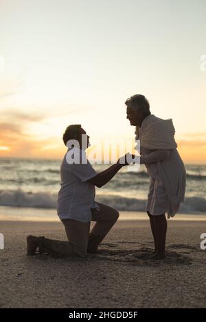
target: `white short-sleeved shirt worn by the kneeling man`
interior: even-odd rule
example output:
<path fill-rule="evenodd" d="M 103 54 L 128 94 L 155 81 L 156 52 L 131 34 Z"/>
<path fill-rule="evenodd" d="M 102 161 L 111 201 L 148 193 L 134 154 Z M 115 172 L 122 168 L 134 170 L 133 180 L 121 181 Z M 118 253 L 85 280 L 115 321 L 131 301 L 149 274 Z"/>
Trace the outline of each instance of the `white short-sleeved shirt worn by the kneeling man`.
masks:
<path fill-rule="evenodd" d="M 69 151 L 69 150 L 68 150 Z M 80 150 L 84 160 L 85 151 Z M 69 164 L 67 153 L 60 167 L 61 188 L 58 193 L 57 213 L 60 219 L 75 219 L 87 223 L 91 221 L 91 208 L 99 208 L 95 202 L 95 186 L 87 180 L 97 173 L 87 163 Z"/>

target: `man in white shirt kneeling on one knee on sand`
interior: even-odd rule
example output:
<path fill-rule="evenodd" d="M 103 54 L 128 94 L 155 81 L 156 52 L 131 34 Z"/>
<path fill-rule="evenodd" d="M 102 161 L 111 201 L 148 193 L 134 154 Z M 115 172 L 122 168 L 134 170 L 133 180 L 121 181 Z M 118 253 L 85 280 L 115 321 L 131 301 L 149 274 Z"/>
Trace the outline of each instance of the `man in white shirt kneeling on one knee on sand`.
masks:
<path fill-rule="evenodd" d="M 85 137 L 87 140 L 84 147 L 83 138 Z M 119 159 L 116 164 L 97 174 L 84 151 L 89 147 L 89 136 L 81 125 L 67 127 L 63 141 L 69 147 L 69 142 L 73 140 L 78 142 L 79 147 L 72 145 L 62 160 L 61 188 L 58 193 L 57 207 L 58 216 L 65 225 L 69 241 L 27 236 L 27 255 L 29 256 L 35 255 L 37 248 L 40 253 L 49 253 L 56 258 L 85 257 L 87 252 L 95 253 L 119 217 L 117 210 L 95 202 L 95 186 L 98 188 L 104 186 L 122 166 L 128 163 L 125 161 L 122 164 Z M 75 152 L 79 152 L 80 158 L 79 162 L 71 163 L 68 162 L 68 153 L 71 156 L 74 149 Z M 95 221 L 95 225 L 89 232 L 91 221 Z"/>

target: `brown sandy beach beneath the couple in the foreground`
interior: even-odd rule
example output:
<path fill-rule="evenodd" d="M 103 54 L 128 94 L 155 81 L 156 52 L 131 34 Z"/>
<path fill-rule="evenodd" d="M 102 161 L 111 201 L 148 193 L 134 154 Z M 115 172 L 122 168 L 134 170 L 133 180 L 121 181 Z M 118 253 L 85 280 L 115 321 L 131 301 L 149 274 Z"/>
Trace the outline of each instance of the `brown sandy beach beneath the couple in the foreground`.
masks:
<path fill-rule="evenodd" d="M 66 240 L 59 222 L 0 221 L 0 232 L 0 308 L 206 306 L 205 221 L 170 219 L 163 261 L 146 259 L 152 250 L 147 220 L 119 220 L 98 253 L 85 260 L 25 256 L 28 234 Z"/>

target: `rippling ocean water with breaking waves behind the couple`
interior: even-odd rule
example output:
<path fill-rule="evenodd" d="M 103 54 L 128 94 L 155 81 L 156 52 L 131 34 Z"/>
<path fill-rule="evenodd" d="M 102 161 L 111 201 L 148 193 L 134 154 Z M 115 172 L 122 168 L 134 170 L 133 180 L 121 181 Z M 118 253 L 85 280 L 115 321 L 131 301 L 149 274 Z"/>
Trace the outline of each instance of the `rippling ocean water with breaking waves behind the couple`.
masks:
<path fill-rule="evenodd" d="M 5 207 L 55 210 L 60 163 L 60 160 L 0 158 L 0 210 Z M 96 171 L 108 166 L 93 165 Z M 206 166 L 186 165 L 186 171 L 187 189 L 180 212 L 206 214 Z M 96 201 L 117 210 L 144 211 L 149 182 L 144 166 L 138 172 L 125 166 L 106 186 L 96 188 Z"/>

